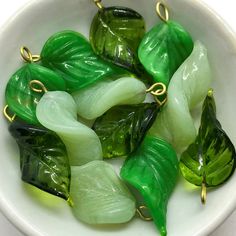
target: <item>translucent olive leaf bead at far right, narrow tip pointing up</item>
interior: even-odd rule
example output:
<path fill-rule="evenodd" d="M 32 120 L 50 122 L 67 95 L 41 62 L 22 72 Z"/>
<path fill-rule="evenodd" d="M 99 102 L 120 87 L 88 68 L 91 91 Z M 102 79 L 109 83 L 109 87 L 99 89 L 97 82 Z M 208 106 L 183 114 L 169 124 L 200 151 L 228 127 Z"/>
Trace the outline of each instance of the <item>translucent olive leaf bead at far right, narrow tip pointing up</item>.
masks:
<path fill-rule="evenodd" d="M 235 148 L 216 119 L 215 101 L 209 92 L 203 104 L 201 126 L 193 144 L 182 154 L 180 169 L 192 184 L 213 187 L 224 183 L 235 170 Z"/>

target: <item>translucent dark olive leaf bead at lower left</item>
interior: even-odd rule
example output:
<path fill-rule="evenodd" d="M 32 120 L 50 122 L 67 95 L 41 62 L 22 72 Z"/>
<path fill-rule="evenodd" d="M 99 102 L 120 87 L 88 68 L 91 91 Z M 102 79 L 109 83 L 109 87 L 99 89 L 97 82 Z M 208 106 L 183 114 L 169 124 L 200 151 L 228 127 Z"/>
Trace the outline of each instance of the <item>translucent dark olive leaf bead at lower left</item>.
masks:
<path fill-rule="evenodd" d="M 45 128 L 20 121 L 13 122 L 9 131 L 20 149 L 22 180 L 67 200 L 70 165 L 60 138 Z"/>

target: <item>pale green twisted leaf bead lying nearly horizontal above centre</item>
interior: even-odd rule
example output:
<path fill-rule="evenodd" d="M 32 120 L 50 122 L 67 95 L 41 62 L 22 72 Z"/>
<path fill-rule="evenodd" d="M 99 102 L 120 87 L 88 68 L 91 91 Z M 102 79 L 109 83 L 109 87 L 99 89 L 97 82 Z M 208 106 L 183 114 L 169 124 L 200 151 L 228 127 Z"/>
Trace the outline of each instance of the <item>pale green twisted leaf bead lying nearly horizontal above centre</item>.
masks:
<path fill-rule="evenodd" d="M 111 107 L 122 104 L 138 104 L 146 97 L 143 82 L 130 77 L 104 80 L 72 95 L 77 112 L 86 119 L 95 119 Z"/>

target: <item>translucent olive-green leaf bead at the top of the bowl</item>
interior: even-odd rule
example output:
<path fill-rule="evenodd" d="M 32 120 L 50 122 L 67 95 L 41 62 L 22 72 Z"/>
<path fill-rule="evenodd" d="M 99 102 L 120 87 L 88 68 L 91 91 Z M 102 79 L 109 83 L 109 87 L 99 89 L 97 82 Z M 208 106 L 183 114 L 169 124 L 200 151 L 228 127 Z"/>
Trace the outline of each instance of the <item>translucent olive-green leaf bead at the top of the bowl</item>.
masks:
<path fill-rule="evenodd" d="M 98 11 L 90 29 L 90 42 L 96 54 L 131 71 L 140 65 L 138 46 L 145 34 L 145 22 L 136 11 L 109 7 Z"/>

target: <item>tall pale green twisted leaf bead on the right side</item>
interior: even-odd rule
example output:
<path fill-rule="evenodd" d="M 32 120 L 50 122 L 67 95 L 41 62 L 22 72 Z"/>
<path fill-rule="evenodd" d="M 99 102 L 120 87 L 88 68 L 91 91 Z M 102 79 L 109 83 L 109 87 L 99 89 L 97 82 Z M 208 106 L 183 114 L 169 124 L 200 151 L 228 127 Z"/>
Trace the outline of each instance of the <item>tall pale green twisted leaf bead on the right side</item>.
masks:
<path fill-rule="evenodd" d="M 197 41 L 190 57 L 174 74 L 167 103 L 150 134 L 165 139 L 180 152 L 192 143 L 197 132 L 190 111 L 204 99 L 211 81 L 207 50 Z"/>

